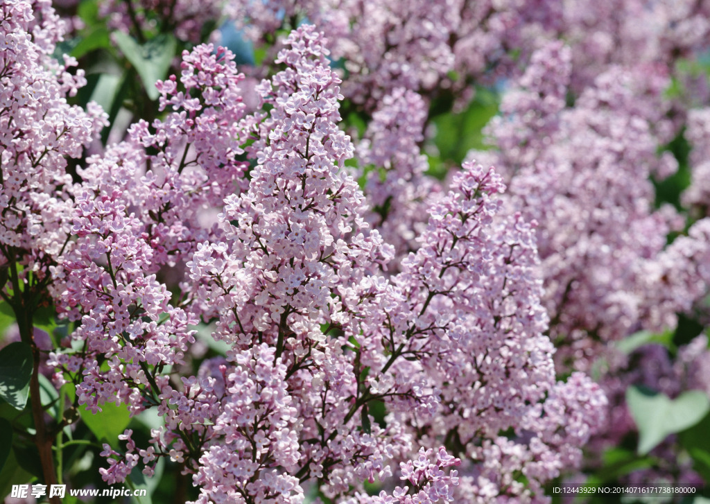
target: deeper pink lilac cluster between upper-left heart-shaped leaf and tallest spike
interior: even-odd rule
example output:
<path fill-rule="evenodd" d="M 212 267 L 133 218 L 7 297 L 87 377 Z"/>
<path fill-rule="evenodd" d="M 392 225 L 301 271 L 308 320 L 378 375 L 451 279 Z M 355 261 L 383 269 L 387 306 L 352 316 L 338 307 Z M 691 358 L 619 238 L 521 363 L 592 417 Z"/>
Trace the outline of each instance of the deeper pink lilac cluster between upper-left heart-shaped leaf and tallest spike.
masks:
<path fill-rule="evenodd" d="M 152 260 L 143 265 L 151 273 L 182 264 L 216 232 L 216 222 L 204 218 L 210 209 L 245 186 L 247 163 L 239 156 L 252 119 L 237 94 L 243 76 L 233 58 L 228 50 L 214 53 L 212 45 L 186 52 L 180 79 L 156 84 L 160 109 L 170 113 L 153 124 L 133 124 L 125 142 L 80 170 L 85 182 L 77 197 L 87 190 L 121 191 L 116 197 L 136 214 L 136 232 L 152 248 Z M 111 231 L 120 226 L 116 221 Z"/>

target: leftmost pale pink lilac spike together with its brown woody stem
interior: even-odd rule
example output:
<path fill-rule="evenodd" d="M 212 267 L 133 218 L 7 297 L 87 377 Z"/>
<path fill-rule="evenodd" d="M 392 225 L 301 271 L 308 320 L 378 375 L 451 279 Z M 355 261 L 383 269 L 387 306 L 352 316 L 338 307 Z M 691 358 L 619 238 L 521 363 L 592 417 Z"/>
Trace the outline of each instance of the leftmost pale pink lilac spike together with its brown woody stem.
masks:
<path fill-rule="evenodd" d="M 18 345 L 31 355 L 27 378 L 34 427 L 28 439 L 48 484 L 57 476 L 38 381 L 44 345 L 35 336 L 33 314 L 50 304 L 50 270 L 73 246 L 75 204 L 67 159 L 80 158 L 106 123 L 94 102 L 88 111 L 67 102 L 86 80 L 82 70 L 72 75 L 74 58 L 53 57 L 64 31 L 50 1 L 0 4 L 0 298 L 15 315 Z M 15 378 L 14 371 L 3 371 Z M 9 390 L 7 383 L 1 388 Z"/>

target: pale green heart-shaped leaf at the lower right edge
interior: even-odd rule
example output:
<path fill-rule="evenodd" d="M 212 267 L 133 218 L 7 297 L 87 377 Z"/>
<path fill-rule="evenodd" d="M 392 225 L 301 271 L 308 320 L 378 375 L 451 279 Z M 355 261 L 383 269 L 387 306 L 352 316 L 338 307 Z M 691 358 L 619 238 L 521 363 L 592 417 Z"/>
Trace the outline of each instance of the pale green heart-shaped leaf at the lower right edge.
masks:
<path fill-rule="evenodd" d="M 690 390 L 671 400 L 636 385 L 626 390 L 626 404 L 638 427 L 638 453 L 648 454 L 669 434 L 697 424 L 710 411 L 710 399 L 700 390 Z"/>

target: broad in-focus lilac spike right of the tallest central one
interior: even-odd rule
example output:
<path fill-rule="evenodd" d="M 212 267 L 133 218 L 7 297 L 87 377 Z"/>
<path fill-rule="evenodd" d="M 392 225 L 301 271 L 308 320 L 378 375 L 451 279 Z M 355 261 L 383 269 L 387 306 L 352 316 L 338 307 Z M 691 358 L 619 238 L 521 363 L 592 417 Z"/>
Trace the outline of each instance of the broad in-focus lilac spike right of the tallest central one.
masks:
<path fill-rule="evenodd" d="M 393 278 L 405 298 L 388 313 L 418 317 L 388 315 L 383 336 L 393 356 L 417 357 L 392 366 L 395 383 L 405 373 L 413 393 L 422 382 L 440 397 L 436 409 L 393 408 L 395 416 L 466 456 L 466 483 L 454 493 L 465 502 L 540 498 L 540 483 L 579 462 L 580 443 L 594 432 L 605 403 L 584 376 L 555 384 L 535 240 L 519 215 L 501 214 L 503 188 L 493 170 L 474 164 L 454 177 L 449 194 L 430 208 L 421 248 Z M 413 379 L 422 374 L 425 380 Z M 511 428 L 515 437 L 500 436 Z M 520 458 L 490 465 L 506 451 Z M 528 478 L 527 487 L 510 484 L 516 471 Z"/>

